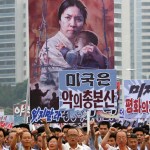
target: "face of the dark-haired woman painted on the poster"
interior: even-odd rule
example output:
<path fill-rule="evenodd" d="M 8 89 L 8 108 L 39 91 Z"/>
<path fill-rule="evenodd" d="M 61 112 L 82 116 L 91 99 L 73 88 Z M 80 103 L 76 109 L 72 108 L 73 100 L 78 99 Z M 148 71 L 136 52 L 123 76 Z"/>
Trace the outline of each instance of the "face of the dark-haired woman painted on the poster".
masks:
<path fill-rule="evenodd" d="M 84 17 L 77 6 L 71 6 L 65 9 L 59 20 L 60 31 L 70 40 L 82 30 Z"/>

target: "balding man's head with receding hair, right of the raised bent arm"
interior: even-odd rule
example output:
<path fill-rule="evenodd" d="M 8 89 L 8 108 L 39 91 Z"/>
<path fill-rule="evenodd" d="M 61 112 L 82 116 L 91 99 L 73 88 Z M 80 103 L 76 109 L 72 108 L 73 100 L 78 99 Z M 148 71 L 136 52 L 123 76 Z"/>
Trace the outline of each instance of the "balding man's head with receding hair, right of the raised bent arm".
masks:
<path fill-rule="evenodd" d="M 127 135 L 124 131 L 118 131 L 116 134 L 116 143 L 119 147 L 124 147 L 127 144 Z"/>

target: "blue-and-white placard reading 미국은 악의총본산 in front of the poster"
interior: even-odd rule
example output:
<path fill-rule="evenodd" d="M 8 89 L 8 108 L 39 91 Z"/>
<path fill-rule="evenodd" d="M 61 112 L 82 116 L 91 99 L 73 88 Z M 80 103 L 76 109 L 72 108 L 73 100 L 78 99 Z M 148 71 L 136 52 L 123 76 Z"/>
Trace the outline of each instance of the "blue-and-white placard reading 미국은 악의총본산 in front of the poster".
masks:
<path fill-rule="evenodd" d="M 115 70 L 70 70 L 59 73 L 59 108 L 116 110 Z"/>

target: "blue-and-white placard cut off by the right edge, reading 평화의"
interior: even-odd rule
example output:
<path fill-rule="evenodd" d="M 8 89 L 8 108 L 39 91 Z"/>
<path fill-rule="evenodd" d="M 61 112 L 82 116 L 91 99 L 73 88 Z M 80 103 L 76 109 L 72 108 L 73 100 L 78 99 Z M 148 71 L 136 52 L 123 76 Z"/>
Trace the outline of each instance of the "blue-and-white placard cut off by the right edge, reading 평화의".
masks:
<path fill-rule="evenodd" d="M 125 80 L 125 118 L 150 118 L 150 80 Z"/>

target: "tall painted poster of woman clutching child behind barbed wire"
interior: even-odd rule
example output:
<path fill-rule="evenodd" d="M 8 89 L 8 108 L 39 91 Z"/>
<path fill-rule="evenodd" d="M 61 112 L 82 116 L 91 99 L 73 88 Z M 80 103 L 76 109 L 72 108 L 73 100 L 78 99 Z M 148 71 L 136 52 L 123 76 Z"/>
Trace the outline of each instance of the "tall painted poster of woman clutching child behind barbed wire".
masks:
<path fill-rule="evenodd" d="M 29 57 L 31 121 L 68 121 L 59 109 L 59 72 L 114 68 L 114 1 L 30 0 Z"/>

